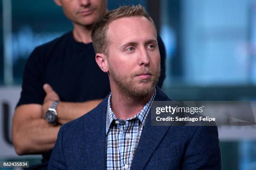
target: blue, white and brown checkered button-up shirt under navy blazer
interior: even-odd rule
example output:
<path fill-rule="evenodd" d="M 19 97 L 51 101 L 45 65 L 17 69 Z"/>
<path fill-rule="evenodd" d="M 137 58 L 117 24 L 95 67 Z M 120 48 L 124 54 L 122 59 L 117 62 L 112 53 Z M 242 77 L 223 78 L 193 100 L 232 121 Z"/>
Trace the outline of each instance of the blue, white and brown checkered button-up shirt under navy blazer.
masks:
<path fill-rule="evenodd" d="M 156 90 L 137 115 L 121 120 L 115 117 L 111 109 L 110 94 L 106 124 L 107 170 L 130 170 L 133 155 L 135 154 L 142 128 L 146 123 L 146 117 L 155 95 Z"/>

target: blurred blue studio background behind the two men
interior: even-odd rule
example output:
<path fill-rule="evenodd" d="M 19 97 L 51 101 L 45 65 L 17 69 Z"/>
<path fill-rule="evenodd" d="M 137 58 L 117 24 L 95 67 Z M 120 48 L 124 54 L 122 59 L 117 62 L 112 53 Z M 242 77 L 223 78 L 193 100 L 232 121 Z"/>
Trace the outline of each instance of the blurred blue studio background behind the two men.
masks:
<path fill-rule="evenodd" d="M 108 0 L 138 4 L 166 46 L 164 91 L 174 100 L 256 100 L 256 0 Z M 10 142 L 11 115 L 34 47 L 72 30 L 53 0 L 1 0 L 0 160 L 20 157 Z M 11 101 L 10 101 L 11 100 Z M 256 170 L 256 128 L 219 129 L 223 170 Z M 1 144 L 1 143 L 0 143 Z"/>

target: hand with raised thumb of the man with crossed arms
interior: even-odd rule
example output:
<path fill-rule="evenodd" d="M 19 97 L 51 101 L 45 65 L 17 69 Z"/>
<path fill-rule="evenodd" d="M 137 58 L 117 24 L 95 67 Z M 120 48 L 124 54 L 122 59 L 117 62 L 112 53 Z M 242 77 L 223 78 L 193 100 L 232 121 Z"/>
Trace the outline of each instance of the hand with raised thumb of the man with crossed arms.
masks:
<path fill-rule="evenodd" d="M 44 84 L 44 91 L 46 92 L 46 96 L 44 97 L 44 103 L 42 107 L 41 117 L 45 119 L 45 114 L 54 100 L 59 100 L 59 95 L 52 89 L 49 84 Z"/>

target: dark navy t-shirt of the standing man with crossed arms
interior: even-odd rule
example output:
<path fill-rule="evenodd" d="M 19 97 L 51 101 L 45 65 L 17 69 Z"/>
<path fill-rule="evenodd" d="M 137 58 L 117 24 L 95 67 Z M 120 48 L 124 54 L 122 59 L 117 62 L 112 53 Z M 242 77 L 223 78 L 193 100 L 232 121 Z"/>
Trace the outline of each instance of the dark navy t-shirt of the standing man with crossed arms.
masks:
<path fill-rule="evenodd" d="M 161 87 L 165 78 L 165 47 L 158 36 L 161 55 Z M 72 32 L 44 45 L 38 46 L 29 56 L 23 73 L 20 100 L 17 104 L 43 104 L 46 93 L 44 83 L 49 83 L 61 101 L 84 102 L 103 99 L 110 92 L 108 74 L 100 70 L 95 61 L 92 43 L 74 40 Z M 49 160 L 51 150 L 43 154 Z"/>

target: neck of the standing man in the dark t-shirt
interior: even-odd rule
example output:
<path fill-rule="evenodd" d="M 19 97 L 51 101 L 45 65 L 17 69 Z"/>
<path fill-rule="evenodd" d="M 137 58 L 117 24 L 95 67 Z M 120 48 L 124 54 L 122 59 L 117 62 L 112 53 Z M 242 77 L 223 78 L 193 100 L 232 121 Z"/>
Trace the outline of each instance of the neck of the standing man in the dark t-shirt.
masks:
<path fill-rule="evenodd" d="M 74 24 L 73 36 L 77 42 L 88 44 L 92 42 L 92 25 L 82 26 Z"/>

